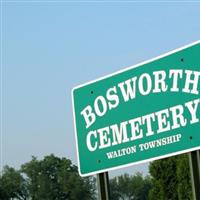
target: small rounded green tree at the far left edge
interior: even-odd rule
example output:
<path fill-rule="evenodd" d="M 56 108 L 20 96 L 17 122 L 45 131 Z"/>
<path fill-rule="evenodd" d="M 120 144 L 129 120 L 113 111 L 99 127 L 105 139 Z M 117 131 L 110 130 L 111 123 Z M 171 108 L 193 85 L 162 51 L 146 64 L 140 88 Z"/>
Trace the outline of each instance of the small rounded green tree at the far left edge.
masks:
<path fill-rule="evenodd" d="M 9 200 L 16 198 L 26 200 L 28 197 L 26 184 L 19 171 L 5 166 L 2 177 L 0 177 L 0 199 Z"/>

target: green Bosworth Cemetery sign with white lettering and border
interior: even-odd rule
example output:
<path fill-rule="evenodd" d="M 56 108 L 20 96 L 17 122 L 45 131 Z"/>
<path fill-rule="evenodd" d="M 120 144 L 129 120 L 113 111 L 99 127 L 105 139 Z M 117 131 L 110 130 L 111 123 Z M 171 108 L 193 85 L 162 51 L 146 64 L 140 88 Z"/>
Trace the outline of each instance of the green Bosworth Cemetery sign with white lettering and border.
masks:
<path fill-rule="evenodd" d="M 200 41 L 72 91 L 82 176 L 200 149 Z"/>

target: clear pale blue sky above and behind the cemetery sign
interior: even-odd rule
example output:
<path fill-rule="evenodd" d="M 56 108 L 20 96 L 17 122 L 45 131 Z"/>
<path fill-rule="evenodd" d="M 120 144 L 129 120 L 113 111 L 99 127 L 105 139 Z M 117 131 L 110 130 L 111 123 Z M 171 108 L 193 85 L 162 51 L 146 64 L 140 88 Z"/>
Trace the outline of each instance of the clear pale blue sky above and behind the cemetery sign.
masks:
<path fill-rule="evenodd" d="M 200 39 L 200 1 L 1 1 L 1 167 L 77 164 L 74 86 Z M 148 164 L 110 172 L 148 172 Z"/>

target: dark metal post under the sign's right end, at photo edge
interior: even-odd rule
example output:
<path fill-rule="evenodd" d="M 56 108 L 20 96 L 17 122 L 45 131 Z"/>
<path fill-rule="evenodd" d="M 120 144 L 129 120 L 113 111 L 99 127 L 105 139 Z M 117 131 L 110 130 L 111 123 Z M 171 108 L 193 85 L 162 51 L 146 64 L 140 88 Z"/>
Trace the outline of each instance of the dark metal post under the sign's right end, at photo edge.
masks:
<path fill-rule="evenodd" d="M 192 192 L 194 200 L 200 200 L 200 151 L 189 153 Z"/>

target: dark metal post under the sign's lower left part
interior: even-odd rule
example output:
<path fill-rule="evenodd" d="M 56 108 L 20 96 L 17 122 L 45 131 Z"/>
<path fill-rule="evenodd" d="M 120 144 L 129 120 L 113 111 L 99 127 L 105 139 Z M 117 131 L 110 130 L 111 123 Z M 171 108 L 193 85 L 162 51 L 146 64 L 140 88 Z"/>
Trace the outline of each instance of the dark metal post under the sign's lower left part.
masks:
<path fill-rule="evenodd" d="M 108 172 L 97 174 L 97 184 L 98 184 L 98 199 L 109 200 L 110 188 L 109 188 Z"/>

